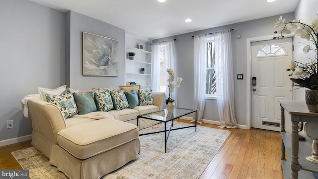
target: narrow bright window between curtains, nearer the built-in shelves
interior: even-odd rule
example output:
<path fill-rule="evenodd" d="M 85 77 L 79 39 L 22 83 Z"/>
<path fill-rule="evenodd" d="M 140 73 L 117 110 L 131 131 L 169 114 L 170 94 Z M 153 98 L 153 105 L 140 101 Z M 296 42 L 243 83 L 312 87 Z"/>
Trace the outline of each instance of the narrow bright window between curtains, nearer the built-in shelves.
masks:
<path fill-rule="evenodd" d="M 165 45 L 160 45 L 160 92 L 166 92 L 167 89 L 167 66 L 165 60 Z"/>

